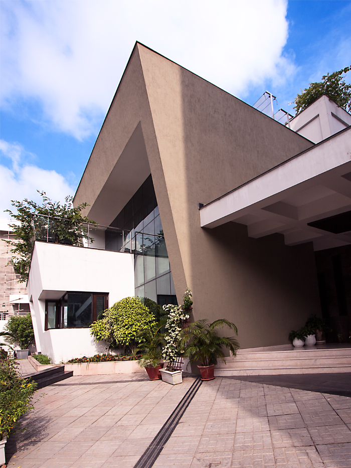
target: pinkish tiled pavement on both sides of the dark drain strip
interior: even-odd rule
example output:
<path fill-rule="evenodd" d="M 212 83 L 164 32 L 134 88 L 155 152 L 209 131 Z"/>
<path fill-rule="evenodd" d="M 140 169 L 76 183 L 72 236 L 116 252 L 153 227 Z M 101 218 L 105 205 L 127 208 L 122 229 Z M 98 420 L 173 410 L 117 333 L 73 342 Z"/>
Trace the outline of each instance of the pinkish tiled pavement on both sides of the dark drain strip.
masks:
<path fill-rule="evenodd" d="M 9 467 L 132 468 L 194 381 L 141 379 L 72 377 L 39 390 L 28 430 L 7 444 Z M 351 398 L 217 377 L 153 466 L 351 468 Z"/>

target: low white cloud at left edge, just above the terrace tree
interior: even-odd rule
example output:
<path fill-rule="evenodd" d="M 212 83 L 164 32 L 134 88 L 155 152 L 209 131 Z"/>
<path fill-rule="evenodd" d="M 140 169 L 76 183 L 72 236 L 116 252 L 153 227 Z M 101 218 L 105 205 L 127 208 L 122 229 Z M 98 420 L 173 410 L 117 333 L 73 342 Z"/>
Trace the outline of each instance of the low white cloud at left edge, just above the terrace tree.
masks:
<path fill-rule="evenodd" d="M 24 162 L 29 153 L 20 144 L 0 140 L 0 153 L 2 157 L 11 160 L 10 168 L 0 164 L 0 218 L 6 217 L 4 210 L 13 211 L 11 200 L 22 201 L 27 198 L 41 202 L 37 190 L 44 191 L 52 200 L 61 202 L 65 196 L 73 195 L 72 187 L 61 174 Z"/>

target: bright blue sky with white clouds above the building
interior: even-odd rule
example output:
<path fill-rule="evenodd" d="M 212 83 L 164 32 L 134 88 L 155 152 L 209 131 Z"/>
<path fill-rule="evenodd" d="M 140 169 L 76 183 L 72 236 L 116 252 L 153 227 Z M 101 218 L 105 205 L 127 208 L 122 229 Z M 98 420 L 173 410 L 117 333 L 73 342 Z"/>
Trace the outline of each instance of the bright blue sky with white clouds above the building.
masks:
<path fill-rule="evenodd" d="M 11 199 L 38 200 L 37 189 L 74 194 L 136 40 L 249 104 L 267 89 L 291 113 L 300 88 L 351 65 L 348 0 L 2 0 L 0 9 L 0 217 Z"/>

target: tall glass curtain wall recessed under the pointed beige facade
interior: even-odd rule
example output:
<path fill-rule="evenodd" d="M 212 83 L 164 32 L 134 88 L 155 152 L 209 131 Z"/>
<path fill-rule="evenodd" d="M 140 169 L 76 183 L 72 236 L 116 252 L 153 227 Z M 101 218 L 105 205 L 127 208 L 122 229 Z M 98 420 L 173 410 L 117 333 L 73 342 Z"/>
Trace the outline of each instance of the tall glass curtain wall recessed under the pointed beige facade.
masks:
<path fill-rule="evenodd" d="M 151 175 L 110 226 L 131 231 L 135 295 L 177 303 Z"/>

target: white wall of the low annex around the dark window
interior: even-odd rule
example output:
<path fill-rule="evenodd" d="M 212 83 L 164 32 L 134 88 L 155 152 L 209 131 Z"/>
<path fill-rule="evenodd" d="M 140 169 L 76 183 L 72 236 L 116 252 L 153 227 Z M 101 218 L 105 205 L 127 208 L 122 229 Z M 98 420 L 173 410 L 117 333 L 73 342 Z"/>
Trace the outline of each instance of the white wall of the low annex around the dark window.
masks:
<path fill-rule="evenodd" d="M 90 329 L 45 331 L 45 300 L 66 291 L 107 292 L 109 306 L 134 295 L 134 255 L 94 248 L 36 242 L 27 284 L 37 351 L 57 364 L 103 353 Z"/>

